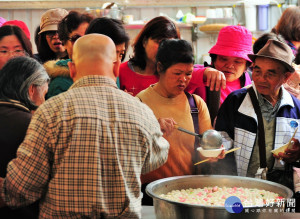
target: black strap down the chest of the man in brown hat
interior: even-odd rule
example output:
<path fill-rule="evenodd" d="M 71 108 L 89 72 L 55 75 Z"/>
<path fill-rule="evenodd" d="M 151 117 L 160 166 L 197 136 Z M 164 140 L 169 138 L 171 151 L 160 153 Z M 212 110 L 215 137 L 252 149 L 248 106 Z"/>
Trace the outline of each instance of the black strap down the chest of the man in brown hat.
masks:
<path fill-rule="evenodd" d="M 258 146 L 259 146 L 259 159 L 260 159 L 260 167 L 266 168 L 267 161 L 266 161 L 266 142 L 265 142 L 265 130 L 264 130 L 264 122 L 262 118 L 262 114 L 260 111 L 259 103 L 256 98 L 255 92 L 253 87 L 248 89 L 252 105 L 254 107 L 254 111 L 257 115 L 258 121 Z"/>

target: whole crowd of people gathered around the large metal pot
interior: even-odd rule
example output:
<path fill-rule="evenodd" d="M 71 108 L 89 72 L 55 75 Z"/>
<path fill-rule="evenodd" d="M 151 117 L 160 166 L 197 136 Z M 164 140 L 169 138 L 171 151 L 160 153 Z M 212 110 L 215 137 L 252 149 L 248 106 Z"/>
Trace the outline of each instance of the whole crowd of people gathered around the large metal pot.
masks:
<path fill-rule="evenodd" d="M 0 18 L 0 214 L 141 218 L 149 183 L 193 174 L 298 194 L 300 132 L 284 153 L 271 150 L 300 123 L 299 20 L 300 7 L 286 9 L 254 44 L 247 28 L 223 27 L 211 63 L 198 64 L 164 16 L 144 25 L 125 62 L 120 20 L 47 10 L 33 54 L 26 24 Z M 194 166 L 206 159 L 199 139 L 178 127 L 215 129 L 226 150 L 241 149 Z"/>

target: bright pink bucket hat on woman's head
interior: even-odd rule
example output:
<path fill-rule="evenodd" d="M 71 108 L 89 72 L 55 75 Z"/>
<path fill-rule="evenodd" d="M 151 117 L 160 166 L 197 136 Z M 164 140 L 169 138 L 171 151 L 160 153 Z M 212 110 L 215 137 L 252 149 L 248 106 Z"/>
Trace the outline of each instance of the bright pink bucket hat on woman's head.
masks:
<path fill-rule="evenodd" d="M 248 54 L 253 54 L 252 34 L 243 26 L 230 25 L 223 27 L 219 32 L 216 45 L 208 53 L 239 57 L 252 62 L 248 57 Z"/>

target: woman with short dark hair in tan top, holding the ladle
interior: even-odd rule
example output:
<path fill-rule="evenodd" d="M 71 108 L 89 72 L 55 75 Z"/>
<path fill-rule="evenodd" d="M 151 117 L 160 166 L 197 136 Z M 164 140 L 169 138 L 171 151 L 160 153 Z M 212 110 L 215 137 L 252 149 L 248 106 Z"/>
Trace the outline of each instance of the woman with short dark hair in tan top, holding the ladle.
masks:
<path fill-rule="evenodd" d="M 194 54 L 192 46 L 187 41 L 163 40 L 156 55 L 155 74 L 159 77 L 159 81 L 138 93 L 137 97 L 152 109 L 159 121 L 162 118 L 170 118 L 171 123 L 191 132 L 203 134 L 206 130 L 212 129 L 207 106 L 199 96 L 184 92 L 192 78 L 193 68 Z M 192 109 L 198 111 L 194 113 L 197 119 L 191 115 L 191 112 L 195 112 Z M 168 160 L 157 170 L 141 176 L 142 188 L 165 177 L 199 174 L 194 166 L 200 158 L 195 150 L 198 147 L 195 143 L 197 139 L 178 130 L 164 137 L 170 143 Z M 152 204 L 146 194 L 143 204 Z"/>

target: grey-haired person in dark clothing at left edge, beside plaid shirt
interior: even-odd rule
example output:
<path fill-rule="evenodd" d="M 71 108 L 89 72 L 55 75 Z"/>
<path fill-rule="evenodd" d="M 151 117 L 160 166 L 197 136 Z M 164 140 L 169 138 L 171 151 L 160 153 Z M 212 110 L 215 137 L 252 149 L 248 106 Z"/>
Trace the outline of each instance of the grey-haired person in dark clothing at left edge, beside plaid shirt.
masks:
<path fill-rule="evenodd" d="M 32 113 L 45 101 L 50 78 L 35 59 L 16 57 L 0 70 L 0 177 L 7 164 L 16 157 Z M 37 218 L 37 204 L 12 210 L 0 209 L 9 218 Z"/>

